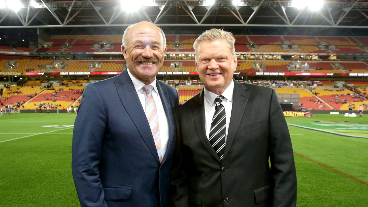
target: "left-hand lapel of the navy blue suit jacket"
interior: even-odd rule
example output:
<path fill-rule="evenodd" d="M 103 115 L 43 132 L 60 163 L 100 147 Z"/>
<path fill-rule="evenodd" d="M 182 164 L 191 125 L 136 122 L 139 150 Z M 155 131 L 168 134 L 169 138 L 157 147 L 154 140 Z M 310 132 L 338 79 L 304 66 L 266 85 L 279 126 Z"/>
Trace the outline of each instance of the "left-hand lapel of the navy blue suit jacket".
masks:
<path fill-rule="evenodd" d="M 114 82 L 121 103 L 123 103 L 125 110 L 127 110 L 131 120 L 135 124 L 135 127 L 137 127 L 139 134 L 141 134 L 147 147 L 152 152 L 152 155 L 156 158 L 156 161 L 160 163 L 147 117 L 127 70 L 124 70 L 119 75 L 118 80 L 115 80 Z"/>

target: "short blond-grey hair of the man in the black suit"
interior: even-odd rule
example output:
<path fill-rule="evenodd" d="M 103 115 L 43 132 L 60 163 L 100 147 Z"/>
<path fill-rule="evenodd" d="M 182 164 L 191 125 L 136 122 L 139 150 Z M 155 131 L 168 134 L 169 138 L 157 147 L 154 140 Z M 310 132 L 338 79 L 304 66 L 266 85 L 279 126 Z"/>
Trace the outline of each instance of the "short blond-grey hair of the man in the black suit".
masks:
<path fill-rule="evenodd" d="M 227 44 L 229 45 L 229 48 L 231 52 L 233 53 L 233 56 L 236 57 L 235 54 L 235 38 L 233 36 L 233 33 L 224 31 L 224 28 L 221 29 L 208 29 L 205 32 L 203 32 L 199 37 L 194 41 L 193 48 L 195 51 L 195 59 L 197 60 L 197 51 L 199 47 L 199 43 L 203 41 L 216 41 L 219 39 L 226 40 Z"/>

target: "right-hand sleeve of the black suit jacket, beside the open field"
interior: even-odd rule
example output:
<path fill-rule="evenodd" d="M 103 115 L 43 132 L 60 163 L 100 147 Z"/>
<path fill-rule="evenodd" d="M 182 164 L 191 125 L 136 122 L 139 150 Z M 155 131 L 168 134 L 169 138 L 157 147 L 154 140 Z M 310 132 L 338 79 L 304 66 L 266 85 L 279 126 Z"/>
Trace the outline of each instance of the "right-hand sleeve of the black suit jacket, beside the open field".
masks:
<path fill-rule="evenodd" d="M 273 207 L 295 207 L 297 178 L 289 129 L 276 91 L 272 90 L 269 114 L 270 162 Z"/>

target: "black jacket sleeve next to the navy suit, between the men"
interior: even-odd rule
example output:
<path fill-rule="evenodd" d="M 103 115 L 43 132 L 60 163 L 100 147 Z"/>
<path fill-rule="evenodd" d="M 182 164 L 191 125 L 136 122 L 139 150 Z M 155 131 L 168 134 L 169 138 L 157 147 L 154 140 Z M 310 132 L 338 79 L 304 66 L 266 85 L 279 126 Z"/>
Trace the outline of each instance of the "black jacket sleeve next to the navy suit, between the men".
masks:
<path fill-rule="evenodd" d="M 189 187 L 187 163 L 184 159 L 185 149 L 180 132 L 180 123 L 177 117 L 177 109 L 174 110 L 174 121 L 176 124 L 176 143 L 173 156 L 173 165 L 171 167 L 171 185 L 170 199 L 172 207 L 188 207 L 189 206 Z"/>

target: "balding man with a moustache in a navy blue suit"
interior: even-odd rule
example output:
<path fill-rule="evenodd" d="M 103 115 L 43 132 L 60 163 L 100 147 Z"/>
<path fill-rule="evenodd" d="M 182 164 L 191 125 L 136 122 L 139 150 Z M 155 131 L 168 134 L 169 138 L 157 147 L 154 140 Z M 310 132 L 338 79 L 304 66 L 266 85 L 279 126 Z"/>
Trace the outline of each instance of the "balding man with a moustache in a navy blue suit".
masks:
<path fill-rule="evenodd" d="M 128 69 L 84 90 L 73 131 L 75 188 L 81 206 L 167 207 L 178 92 L 156 80 L 164 33 L 131 25 L 121 51 Z"/>

